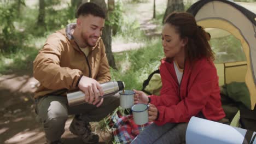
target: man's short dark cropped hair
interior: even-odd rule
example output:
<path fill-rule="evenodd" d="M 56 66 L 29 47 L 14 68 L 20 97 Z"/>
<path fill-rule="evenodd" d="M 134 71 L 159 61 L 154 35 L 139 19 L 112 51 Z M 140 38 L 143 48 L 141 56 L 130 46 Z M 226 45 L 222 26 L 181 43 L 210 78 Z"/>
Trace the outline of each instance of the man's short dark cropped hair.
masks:
<path fill-rule="evenodd" d="M 98 16 L 101 17 L 103 19 L 106 19 L 106 14 L 105 11 L 98 6 L 95 3 L 84 3 L 81 4 L 77 10 L 77 14 L 76 17 L 78 18 L 80 15 L 82 16 L 86 16 L 86 15 L 93 15 L 93 16 Z"/>

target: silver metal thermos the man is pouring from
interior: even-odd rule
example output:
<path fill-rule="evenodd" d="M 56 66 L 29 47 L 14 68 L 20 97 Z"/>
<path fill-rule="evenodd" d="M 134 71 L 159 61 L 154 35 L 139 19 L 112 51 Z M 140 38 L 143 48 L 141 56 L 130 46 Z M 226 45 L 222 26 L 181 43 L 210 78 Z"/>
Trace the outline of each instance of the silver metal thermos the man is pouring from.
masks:
<path fill-rule="evenodd" d="M 101 83 L 104 95 L 101 98 L 108 97 L 109 95 L 114 95 L 118 91 L 125 88 L 123 81 L 109 81 Z M 67 94 L 67 101 L 69 106 L 75 106 L 85 103 L 85 95 L 82 91 L 77 91 Z"/>

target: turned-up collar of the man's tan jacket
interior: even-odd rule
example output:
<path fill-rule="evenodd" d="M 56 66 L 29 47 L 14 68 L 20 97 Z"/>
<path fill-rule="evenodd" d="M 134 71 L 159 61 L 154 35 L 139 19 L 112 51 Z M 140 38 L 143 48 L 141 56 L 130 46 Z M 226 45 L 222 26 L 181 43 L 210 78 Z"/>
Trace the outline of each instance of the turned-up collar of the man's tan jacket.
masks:
<path fill-rule="evenodd" d="M 77 42 L 75 41 L 74 37 L 73 37 L 73 32 L 74 32 L 74 29 L 75 27 L 77 26 L 77 23 L 69 23 L 67 26 L 66 26 L 66 29 L 65 29 L 65 34 L 66 34 L 66 37 L 67 39 L 71 42 L 72 46 L 74 47 L 74 49 L 80 51 L 80 48 L 77 44 Z M 99 46 L 100 44 L 100 40 L 101 40 L 101 37 L 98 38 L 97 42 L 96 42 L 96 45 L 95 46 L 88 46 L 88 48 L 90 49 L 90 51 L 93 51 L 96 47 Z"/>

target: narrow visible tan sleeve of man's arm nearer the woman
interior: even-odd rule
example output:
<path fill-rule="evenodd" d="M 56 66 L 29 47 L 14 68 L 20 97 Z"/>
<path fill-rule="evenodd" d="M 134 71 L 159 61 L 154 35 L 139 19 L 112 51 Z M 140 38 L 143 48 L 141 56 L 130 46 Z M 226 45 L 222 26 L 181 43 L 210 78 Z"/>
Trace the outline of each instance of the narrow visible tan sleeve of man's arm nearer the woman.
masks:
<path fill-rule="evenodd" d="M 110 71 L 109 71 L 109 65 L 108 65 L 108 59 L 106 55 L 106 49 L 103 44 L 103 41 L 100 41 L 100 47 L 101 47 L 101 62 L 100 62 L 100 68 L 96 77 L 96 80 L 100 83 L 110 81 Z"/>

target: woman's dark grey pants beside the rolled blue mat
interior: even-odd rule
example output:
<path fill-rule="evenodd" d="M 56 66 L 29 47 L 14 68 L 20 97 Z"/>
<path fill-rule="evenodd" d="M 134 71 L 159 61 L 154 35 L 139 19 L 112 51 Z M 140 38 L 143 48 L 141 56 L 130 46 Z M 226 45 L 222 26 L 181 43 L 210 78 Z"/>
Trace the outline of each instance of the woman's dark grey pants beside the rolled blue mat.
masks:
<path fill-rule="evenodd" d="M 131 144 L 150 143 L 185 143 L 188 123 L 166 123 L 158 126 L 155 123 L 146 127 Z"/>

